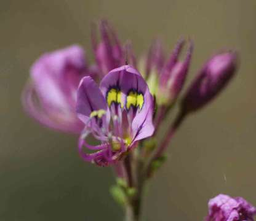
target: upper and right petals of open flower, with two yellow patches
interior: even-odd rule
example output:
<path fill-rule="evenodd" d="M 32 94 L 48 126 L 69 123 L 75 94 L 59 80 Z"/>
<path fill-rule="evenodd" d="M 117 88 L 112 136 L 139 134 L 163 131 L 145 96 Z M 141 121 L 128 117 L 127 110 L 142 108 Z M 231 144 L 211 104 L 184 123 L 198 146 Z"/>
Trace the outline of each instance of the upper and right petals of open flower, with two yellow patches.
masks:
<path fill-rule="evenodd" d="M 112 91 L 112 88 L 115 91 Z M 133 141 L 153 134 L 153 98 L 148 85 L 136 69 L 124 65 L 110 71 L 100 83 L 100 89 L 109 106 L 113 101 L 127 112 L 131 108 L 137 110 L 131 125 Z M 116 96 L 113 96 L 114 92 Z M 121 93 L 121 98 L 119 98 L 119 93 Z"/>

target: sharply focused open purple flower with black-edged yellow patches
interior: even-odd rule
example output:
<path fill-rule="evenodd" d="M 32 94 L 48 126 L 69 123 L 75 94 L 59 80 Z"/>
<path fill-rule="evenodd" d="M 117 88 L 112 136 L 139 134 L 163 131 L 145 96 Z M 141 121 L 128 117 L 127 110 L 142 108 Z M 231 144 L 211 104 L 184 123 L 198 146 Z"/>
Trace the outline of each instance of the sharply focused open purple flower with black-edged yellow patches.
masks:
<path fill-rule="evenodd" d="M 137 141 L 154 132 L 153 98 L 143 77 L 129 65 L 110 71 L 100 87 L 91 77 L 84 77 L 78 88 L 76 111 L 85 124 L 79 152 L 84 160 L 100 166 L 115 163 Z M 100 144 L 87 144 L 89 134 Z M 95 152 L 85 153 L 83 146 Z"/>

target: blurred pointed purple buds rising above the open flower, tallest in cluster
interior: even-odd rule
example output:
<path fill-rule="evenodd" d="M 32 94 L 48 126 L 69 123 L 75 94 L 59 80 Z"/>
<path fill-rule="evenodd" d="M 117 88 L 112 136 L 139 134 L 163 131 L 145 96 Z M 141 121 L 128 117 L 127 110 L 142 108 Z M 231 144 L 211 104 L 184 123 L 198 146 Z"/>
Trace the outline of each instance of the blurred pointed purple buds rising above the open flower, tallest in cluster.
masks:
<path fill-rule="evenodd" d="M 100 41 L 97 41 L 96 28 L 92 28 L 92 45 L 95 60 L 102 76 L 125 63 L 124 49 L 113 28 L 107 21 L 100 21 Z"/>

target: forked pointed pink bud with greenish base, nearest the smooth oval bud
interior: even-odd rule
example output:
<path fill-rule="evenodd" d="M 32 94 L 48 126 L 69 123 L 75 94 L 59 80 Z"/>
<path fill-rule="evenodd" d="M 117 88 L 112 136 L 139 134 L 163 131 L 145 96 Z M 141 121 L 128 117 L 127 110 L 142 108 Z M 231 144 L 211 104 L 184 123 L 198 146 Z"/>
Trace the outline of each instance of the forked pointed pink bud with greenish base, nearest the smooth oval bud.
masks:
<path fill-rule="evenodd" d="M 191 54 L 193 52 L 193 43 L 190 41 L 185 60 L 178 61 L 178 57 L 182 52 L 184 40 L 176 45 L 174 52 L 167 61 L 166 66 L 162 69 L 159 77 L 158 103 L 170 104 L 177 99 L 180 91 L 185 83 L 188 68 L 190 66 Z"/>

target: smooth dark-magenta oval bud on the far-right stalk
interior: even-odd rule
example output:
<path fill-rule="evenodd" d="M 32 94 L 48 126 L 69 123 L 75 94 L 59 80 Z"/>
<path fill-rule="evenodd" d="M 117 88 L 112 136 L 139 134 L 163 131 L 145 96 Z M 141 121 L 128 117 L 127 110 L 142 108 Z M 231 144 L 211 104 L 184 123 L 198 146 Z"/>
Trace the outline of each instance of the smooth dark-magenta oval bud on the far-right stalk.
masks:
<path fill-rule="evenodd" d="M 209 103 L 233 77 L 236 64 L 234 52 L 221 53 L 210 58 L 186 91 L 182 102 L 183 110 L 197 111 Z"/>

